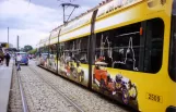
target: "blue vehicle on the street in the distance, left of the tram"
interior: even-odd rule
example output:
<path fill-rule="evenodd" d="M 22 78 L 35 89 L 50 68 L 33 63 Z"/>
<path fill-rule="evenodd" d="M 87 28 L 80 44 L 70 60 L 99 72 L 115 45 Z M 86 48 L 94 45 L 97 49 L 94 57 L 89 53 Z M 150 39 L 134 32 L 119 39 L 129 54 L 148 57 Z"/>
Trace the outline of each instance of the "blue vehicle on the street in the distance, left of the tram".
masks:
<path fill-rule="evenodd" d="M 22 60 L 21 60 L 21 64 L 25 64 L 25 65 L 28 65 L 28 57 L 27 57 L 27 53 L 26 52 L 16 52 L 15 53 L 15 65 L 17 65 L 17 62 L 16 62 L 16 57 L 17 54 L 20 54 L 22 57 Z"/>

